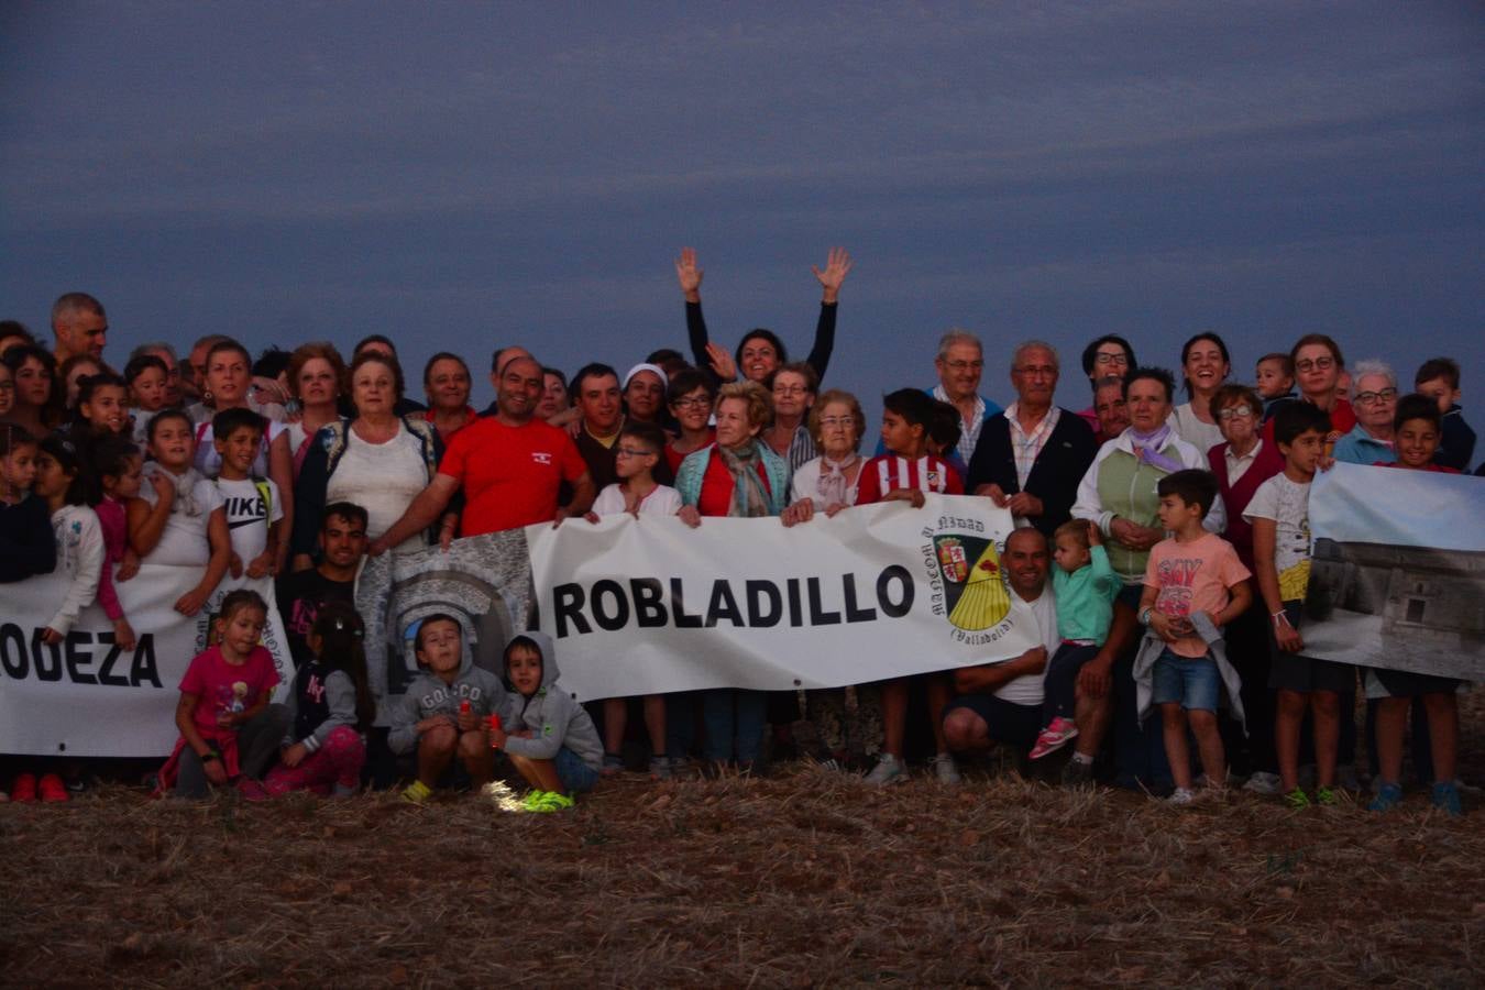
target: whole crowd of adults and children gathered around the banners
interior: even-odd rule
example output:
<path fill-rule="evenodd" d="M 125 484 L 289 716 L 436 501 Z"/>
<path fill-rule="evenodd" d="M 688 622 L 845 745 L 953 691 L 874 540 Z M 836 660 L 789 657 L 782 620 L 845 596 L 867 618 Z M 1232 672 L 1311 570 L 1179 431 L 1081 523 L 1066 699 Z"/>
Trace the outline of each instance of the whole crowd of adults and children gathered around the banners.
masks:
<path fill-rule="evenodd" d="M 1109 334 L 1081 355 L 1087 405 L 1065 408 L 1056 349 L 1028 341 L 1005 355 L 1014 395 L 1001 408 L 982 393 L 982 341 L 950 330 L 937 381 L 884 396 L 873 456 L 858 398 L 824 387 L 851 258 L 833 249 L 812 270 L 821 306 L 805 361 L 762 328 L 734 350 L 714 341 L 686 249 L 676 273 L 689 361 L 661 349 L 622 374 L 588 364 L 569 377 L 500 347 L 483 411 L 451 352 L 423 368 L 426 404 L 410 398 L 385 335 L 358 341 L 349 361 L 322 341 L 254 359 L 206 335 L 184 356 L 143 344 L 116 371 L 102 304 L 62 295 L 50 347 L 0 325 L 0 580 L 59 568 L 68 594 L 45 638 L 64 638 L 97 600 L 128 647 L 117 583 L 143 563 L 199 574 L 175 603 L 183 614 L 229 574 L 275 577 L 273 600 L 221 600 L 212 646 L 180 684 L 180 741 L 159 787 L 186 797 L 226 785 L 252 799 L 350 793 L 382 760 L 394 769 L 376 776 L 410 778 L 404 796 L 422 801 L 451 781 L 489 782 L 503 760 L 529 785 L 527 807 L 558 810 L 622 772 L 636 745 L 656 779 L 762 770 L 793 747 L 863 770 L 869 785 L 906 779 L 915 747 L 956 784 L 967 755 L 1002 745 L 1069 785 L 1111 779 L 1187 804 L 1244 778 L 1302 807 L 1360 787 L 1362 690 L 1369 806 L 1402 800 L 1411 717 L 1418 781 L 1433 804 L 1461 812 L 1460 683 L 1310 658 L 1301 631 L 1316 472 L 1336 460 L 1467 471 L 1475 435 L 1455 362 L 1423 362 L 1400 395 L 1387 365 L 1347 365 L 1334 340 L 1308 334 L 1265 355 L 1249 386 L 1233 380 L 1221 335 L 1201 332 L 1182 347 L 1178 404 L 1176 376 Z M 799 698 L 717 689 L 581 707 L 552 687 L 557 658 L 541 634 L 517 634 L 503 669 L 486 671 L 469 662 L 460 620 L 437 614 L 410 631 L 419 678 L 388 712 L 391 729 L 373 729 L 353 600 L 365 554 L 621 512 L 809 525 L 875 502 L 921 506 L 930 493 L 1011 514 L 999 563 L 1007 594 L 1035 616 L 1035 649 Z M 278 674 L 258 643 L 273 609 L 296 668 L 287 705 L 270 704 Z M 7 769 L 10 800 L 67 799 L 67 773 Z"/>

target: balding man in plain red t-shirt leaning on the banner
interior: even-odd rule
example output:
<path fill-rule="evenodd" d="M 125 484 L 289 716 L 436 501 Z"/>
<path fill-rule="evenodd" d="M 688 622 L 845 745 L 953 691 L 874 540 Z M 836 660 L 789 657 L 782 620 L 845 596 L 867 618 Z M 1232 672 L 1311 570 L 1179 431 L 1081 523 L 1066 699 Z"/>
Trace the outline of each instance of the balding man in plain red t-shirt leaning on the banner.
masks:
<path fill-rule="evenodd" d="M 542 367 L 533 358 L 515 358 L 502 367 L 495 416 L 471 423 L 448 441 L 438 475 L 367 552 L 374 557 L 428 528 L 460 488 L 460 536 L 548 519 L 560 524 L 587 512 L 597 493 L 582 454 L 566 432 L 535 419 L 542 386 Z M 558 506 L 563 481 L 572 484 L 573 496 Z"/>

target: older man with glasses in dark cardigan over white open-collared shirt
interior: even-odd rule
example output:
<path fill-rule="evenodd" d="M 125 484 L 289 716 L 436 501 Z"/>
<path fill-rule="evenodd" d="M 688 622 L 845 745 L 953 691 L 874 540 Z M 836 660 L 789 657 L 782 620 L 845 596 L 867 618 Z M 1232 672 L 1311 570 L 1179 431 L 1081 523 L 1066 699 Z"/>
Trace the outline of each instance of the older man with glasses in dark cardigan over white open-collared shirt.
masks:
<path fill-rule="evenodd" d="M 1017 525 L 1034 525 L 1048 539 L 1072 518 L 1078 482 L 1099 451 L 1083 419 L 1051 404 L 1057 389 L 1057 352 L 1031 340 L 1011 356 L 1016 401 L 985 423 L 970 460 L 967 491 L 1010 509 Z"/>

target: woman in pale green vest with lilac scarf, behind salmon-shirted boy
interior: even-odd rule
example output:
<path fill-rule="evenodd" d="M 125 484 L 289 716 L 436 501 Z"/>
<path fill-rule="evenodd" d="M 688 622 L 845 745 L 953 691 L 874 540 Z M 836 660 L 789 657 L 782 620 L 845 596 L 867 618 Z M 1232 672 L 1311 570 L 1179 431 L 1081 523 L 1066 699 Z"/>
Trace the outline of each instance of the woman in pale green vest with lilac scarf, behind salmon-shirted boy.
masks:
<path fill-rule="evenodd" d="M 1124 378 L 1124 404 L 1129 429 L 1103 444 L 1078 485 L 1072 506 L 1075 519 L 1097 524 L 1114 573 L 1124 582 L 1115 603 L 1109 640 L 1135 646 L 1135 612 L 1145 583 L 1149 548 L 1164 539 L 1157 509 L 1155 485 L 1169 473 L 1185 468 L 1210 468 L 1206 451 L 1198 451 L 1176 436 L 1170 408 L 1176 392 L 1175 377 L 1164 368 L 1136 368 Z M 1227 528 L 1222 497 L 1212 503 L 1201 525 L 1209 533 Z M 1169 784 L 1170 767 L 1160 738 L 1160 724 L 1142 732 L 1130 675 L 1135 653 L 1126 650 L 1114 665 L 1114 750 L 1121 782 Z M 1080 726 L 1080 730 L 1083 726 Z"/>

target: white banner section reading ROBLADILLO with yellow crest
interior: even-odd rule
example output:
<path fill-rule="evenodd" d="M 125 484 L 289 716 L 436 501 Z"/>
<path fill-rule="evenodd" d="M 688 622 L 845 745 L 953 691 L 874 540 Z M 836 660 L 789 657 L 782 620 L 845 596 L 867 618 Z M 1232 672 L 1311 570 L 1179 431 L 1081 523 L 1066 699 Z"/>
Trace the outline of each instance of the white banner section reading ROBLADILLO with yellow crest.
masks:
<path fill-rule="evenodd" d="M 579 701 L 839 687 L 1040 646 L 999 566 L 1011 517 L 928 496 L 777 518 L 615 515 L 526 528 L 541 629 Z"/>

